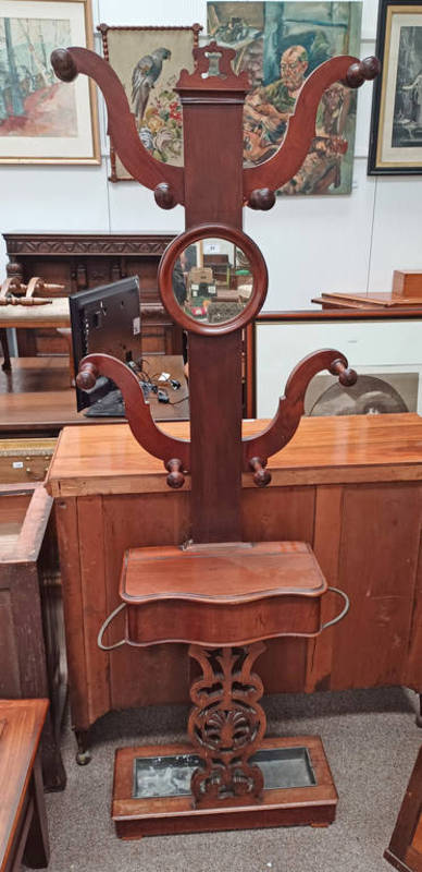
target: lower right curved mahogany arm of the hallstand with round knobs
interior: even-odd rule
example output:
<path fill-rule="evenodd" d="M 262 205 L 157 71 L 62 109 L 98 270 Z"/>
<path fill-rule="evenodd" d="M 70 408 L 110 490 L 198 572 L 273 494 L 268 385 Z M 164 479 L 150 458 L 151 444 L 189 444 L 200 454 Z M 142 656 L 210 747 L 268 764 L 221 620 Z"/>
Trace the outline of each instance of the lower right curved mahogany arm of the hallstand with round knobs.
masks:
<path fill-rule="evenodd" d="M 316 373 L 328 370 L 338 375 L 342 385 L 353 385 L 357 374 L 348 368 L 347 359 L 340 351 L 324 349 L 303 358 L 287 379 L 284 397 L 281 397 L 278 409 L 269 426 L 258 436 L 243 439 L 244 470 L 255 470 L 253 481 L 263 486 L 271 481 L 264 469 L 268 458 L 284 448 L 295 435 L 301 415 L 307 387 Z"/>

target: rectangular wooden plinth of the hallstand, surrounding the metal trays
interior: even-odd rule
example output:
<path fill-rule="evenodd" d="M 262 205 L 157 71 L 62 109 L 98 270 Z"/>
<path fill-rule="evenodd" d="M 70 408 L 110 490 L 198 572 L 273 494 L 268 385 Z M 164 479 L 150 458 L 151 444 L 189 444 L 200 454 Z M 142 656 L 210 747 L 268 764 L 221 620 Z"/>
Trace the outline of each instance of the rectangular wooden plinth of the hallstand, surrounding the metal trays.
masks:
<path fill-rule="evenodd" d="M 264 739 L 262 751 L 305 748 L 315 784 L 306 787 L 264 789 L 262 802 L 194 809 L 191 796 L 134 799 L 135 759 L 195 754 L 188 744 L 144 746 L 116 751 L 112 819 L 124 839 L 220 829 L 252 829 L 264 826 L 327 826 L 334 821 L 337 791 L 321 739 L 298 736 Z M 232 800 L 233 801 L 233 800 Z"/>

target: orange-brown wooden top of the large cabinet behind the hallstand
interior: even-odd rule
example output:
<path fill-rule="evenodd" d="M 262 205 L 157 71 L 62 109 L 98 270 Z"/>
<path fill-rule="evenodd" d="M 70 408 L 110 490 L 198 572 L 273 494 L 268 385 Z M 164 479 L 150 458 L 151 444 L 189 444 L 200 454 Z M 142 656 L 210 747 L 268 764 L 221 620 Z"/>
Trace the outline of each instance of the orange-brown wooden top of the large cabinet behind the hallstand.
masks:
<path fill-rule="evenodd" d="M 266 421 L 244 421 L 245 435 Z M 188 438 L 187 422 L 165 423 L 163 431 Z M 302 417 L 294 438 L 269 461 L 272 484 L 335 484 L 422 479 L 422 417 L 413 413 Z M 128 425 L 65 427 L 47 479 L 53 496 L 170 493 L 161 460 L 147 453 Z M 255 487 L 243 475 L 245 487 Z M 184 489 L 189 489 L 186 476 Z"/>

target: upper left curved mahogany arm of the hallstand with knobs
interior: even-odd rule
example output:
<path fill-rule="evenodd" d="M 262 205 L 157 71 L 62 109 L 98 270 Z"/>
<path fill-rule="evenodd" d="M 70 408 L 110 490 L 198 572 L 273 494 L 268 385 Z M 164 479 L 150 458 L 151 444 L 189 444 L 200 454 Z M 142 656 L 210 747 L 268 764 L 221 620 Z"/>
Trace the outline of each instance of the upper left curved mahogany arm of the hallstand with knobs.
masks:
<path fill-rule="evenodd" d="M 183 203 L 183 168 L 156 160 L 145 148 L 139 140 L 124 87 L 108 61 L 87 48 L 72 47 L 55 49 L 51 55 L 51 63 L 55 75 L 63 82 L 73 82 L 78 73 L 85 73 L 97 82 L 107 104 L 108 133 L 127 172 L 146 187 L 159 189 L 156 199 L 164 208 Z M 160 193 L 164 187 L 166 201 L 160 203 Z"/>

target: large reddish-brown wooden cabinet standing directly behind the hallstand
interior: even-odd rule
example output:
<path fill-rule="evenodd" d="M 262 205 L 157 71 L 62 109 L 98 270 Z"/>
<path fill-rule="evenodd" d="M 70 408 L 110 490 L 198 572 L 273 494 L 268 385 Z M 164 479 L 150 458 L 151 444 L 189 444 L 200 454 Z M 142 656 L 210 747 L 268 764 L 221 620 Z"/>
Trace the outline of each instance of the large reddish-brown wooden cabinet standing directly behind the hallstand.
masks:
<path fill-rule="evenodd" d="M 188 424 L 162 428 L 184 436 Z M 351 606 L 342 627 L 316 641 L 271 641 L 260 666 L 266 691 L 406 685 L 421 692 L 422 419 L 302 419 L 269 467 L 263 491 L 244 475 L 243 538 L 309 542 Z M 183 645 L 105 655 L 96 641 L 119 603 L 124 550 L 189 538 L 189 480 L 171 492 L 165 477 L 126 425 L 75 426 L 60 436 L 47 487 L 57 500 L 72 719 L 82 746 L 83 731 L 110 710 L 188 699 Z M 116 639 L 121 631 L 117 619 Z"/>

